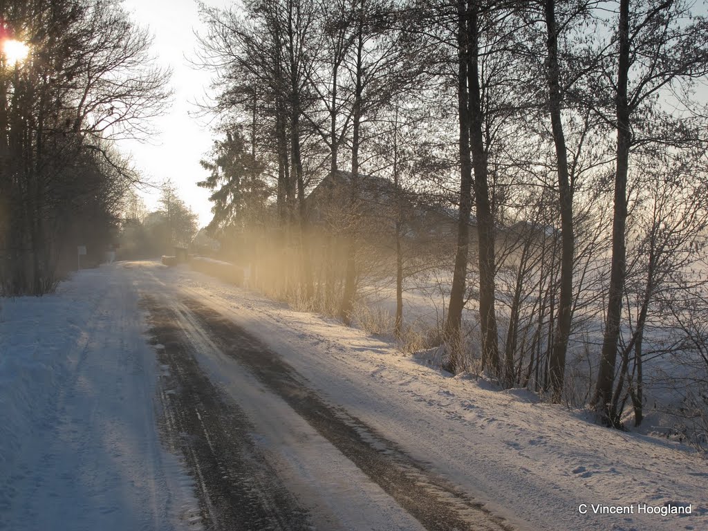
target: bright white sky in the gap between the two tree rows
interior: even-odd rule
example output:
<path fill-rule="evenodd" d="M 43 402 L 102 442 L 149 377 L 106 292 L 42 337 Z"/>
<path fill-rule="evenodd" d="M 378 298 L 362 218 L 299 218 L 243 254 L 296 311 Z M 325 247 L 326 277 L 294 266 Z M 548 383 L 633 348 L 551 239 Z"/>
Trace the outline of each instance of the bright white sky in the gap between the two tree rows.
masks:
<path fill-rule="evenodd" d="M 206 0 L 223 6 L 229 0 Z M 154 35 L 152 53 L 159 64 L 171 67 L 174 98 L 168 113 L 152 121 L 156 134 L 149 142 L 122 141 L 120 148 L 132 153 L 135 166 L 152 183 L 170 178 L 180 197 L 199 215 L 200 227 L 212 219 L 209 192 L 199 188 L 207 173 L 200 159 L 211 149 L 213 135 L 205 118 L 190 118 L 194 101 L 201 101 L 210 82 L 210 74 L 190 67 L 185 56 L 193 57 L 197 46 L 194 30 L 202 31 L 194 0 L 124 0 L 123 6 L 139 25 Z M 149 210 L 157 205 L 159 192 L 145 190 Z"/>

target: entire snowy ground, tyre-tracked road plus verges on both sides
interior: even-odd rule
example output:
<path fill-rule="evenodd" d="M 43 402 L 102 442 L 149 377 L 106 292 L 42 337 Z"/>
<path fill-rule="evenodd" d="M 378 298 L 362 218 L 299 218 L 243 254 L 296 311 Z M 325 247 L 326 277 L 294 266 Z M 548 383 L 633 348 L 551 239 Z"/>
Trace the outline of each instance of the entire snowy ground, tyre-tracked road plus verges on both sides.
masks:
<path fill-rule="evenodd" d="M 708 529 L 702 457 L 205 275 L 0 304 L 3 530 Z"/>

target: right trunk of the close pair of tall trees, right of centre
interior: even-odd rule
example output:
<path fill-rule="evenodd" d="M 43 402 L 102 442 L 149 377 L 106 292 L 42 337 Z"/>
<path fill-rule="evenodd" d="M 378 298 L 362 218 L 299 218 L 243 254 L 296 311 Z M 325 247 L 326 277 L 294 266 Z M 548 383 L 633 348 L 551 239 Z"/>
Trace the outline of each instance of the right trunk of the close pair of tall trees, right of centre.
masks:
<path fill-rule="evenodd" d="M 489 197 L 489 169 L 487 153 L 482 133 L 484 115 L 481 107 L 481 87 L 479 84 L 479 20 L 476 2 L 472 2 L 472 13 L 467 21 L 469 28 L 469 58 L 471 68 L 467 70 L 469 86 L 469 142 L 474 169 L 474 204 L 479 235 L 479 322 L 481 324 L 482 368 L 498 376 L 499 339 L 494 310 L 494 214 Z"/>

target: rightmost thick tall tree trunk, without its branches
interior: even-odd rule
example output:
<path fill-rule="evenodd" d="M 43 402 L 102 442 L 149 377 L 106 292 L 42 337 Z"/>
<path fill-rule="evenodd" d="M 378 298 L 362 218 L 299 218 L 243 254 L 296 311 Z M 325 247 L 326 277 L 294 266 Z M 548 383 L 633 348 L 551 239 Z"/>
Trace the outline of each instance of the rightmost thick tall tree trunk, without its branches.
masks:
<path fill-rule="evenodd" d="M 600 370 L 592 405 L 603 420 L 611 423 L 610 401 L 615 381 L 617 341 L 622 319 L 622 292 L 627 270 L 627 248 L 624 232 L 627 224 L 627 173 L 632 132 L 629 127 L 627 81 L 629 77 L 629 0 L 619 2 L 619 57 L 617 60 L 617 166 L 615 169 L 615 211 L 612 219 L 612 266 L 607 296 L 607 314 Z"/>

